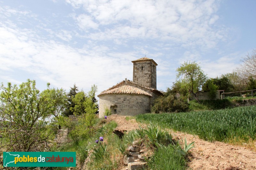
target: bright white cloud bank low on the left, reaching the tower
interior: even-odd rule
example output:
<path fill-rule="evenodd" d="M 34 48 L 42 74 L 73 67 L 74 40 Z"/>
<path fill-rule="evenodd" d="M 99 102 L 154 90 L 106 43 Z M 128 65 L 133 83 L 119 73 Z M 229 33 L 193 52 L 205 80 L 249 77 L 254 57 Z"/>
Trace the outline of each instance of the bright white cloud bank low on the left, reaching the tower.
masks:
<path fill-rule="evenodd" d="M 126 77 L 132 79 L 133 53 L 116 53 L 105 46 L 73 48 L 33 36 L 28 30 L 0 27 L 0 71 L 20 69 L 65 89 L 76 83 L 88 90 L 96 84 L 99 92 Z M 19 82 L 8 76 L 1 78 Z"/>

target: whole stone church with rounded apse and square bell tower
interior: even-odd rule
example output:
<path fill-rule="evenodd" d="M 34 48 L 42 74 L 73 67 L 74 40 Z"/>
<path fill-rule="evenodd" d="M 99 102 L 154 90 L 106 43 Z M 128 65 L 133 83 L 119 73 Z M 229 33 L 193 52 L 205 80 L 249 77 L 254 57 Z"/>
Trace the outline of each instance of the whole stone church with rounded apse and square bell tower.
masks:
<path fill-rule="evenodd" d="M 127 80 L 101 92 L 99 117 L 104 116 L 105 109 L 112 114 L 138 115 L 149 113 L 153 101 L 163 95 L 156 90 L 157 63 L 146 56 L 133 63 L 133 80 Z"/>

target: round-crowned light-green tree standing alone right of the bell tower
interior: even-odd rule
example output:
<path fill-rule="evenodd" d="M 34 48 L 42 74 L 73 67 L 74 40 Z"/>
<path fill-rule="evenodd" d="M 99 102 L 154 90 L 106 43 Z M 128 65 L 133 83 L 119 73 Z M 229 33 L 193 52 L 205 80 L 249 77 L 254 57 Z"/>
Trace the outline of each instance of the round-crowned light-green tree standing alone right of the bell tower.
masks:
<path fill-rule="evenodd" d="M 196 101 L 200 103 L 198 100 L 198 92 L 207 79 L 201 67 L 196 62 L 191 63 L 189 61 L 181 64 L 176 71 L 178 72 L 176 79 L 177 82 L 180 83 L 181 89 L 186 90 L 188 94 L 194 95 Z"/>

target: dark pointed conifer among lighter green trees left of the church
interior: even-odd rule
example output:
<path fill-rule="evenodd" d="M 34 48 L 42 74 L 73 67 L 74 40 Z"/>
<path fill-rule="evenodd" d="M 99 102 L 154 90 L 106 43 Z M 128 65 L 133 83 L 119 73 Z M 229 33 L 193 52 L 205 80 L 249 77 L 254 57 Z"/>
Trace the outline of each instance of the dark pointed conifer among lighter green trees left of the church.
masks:
<path fill-rule="evenodd" d="M 78 92 L 78 87 L 76 86 L 76 84 L 74 84 L 73 87 L 70 87 L 70 90 L 67 93 L 68 102 L 66 104 L 66 110 L 65 110 L 65 112 L 63 112 L 64 116 L 68 117 L 69 115 L 73 115 L 73 112 L 70 110 L 70 108 L 75 107 L 75 103 L 73 101 L 73 98 L 76 96 L 77 92 Z"/>

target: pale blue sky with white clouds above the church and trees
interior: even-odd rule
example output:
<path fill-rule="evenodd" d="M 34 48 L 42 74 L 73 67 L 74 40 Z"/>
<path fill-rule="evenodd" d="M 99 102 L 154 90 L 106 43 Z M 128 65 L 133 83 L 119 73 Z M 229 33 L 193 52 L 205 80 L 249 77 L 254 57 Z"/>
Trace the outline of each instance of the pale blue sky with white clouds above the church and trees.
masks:
<path fill-rule="evenodd" d="M 214 78 L 256 48 L 255 9 L 255 0 L 0 0 L 0 83 L 95 84 L 99 94 L 132 80 L 131 61 L 144 56 L 158 64 L 158 90 L 186 61 Z"/>

